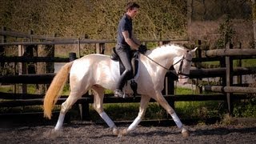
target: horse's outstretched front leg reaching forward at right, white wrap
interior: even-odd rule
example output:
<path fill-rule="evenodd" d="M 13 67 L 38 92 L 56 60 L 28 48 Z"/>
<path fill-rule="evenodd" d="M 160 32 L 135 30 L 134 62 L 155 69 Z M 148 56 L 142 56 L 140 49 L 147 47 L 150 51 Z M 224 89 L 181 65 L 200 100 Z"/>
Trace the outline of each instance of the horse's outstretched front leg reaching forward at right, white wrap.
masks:
<path fill-rule="evenodd" d="M 181 120 L 178 118 L 177 114 L 175 113 L 174 109 L 166 102 L 166 98 L 162 96 L 161 92 L 157 92 L 156 98 L 154 98 L 167 112 L 170 114 L 170 116 L 173 118 L 174 122 L 178 126 L 179 129 L 182 129 L 182 136 L 188 137 L 190 136 L 189 130 L 186 129 L 185 126 L 183 126 Z"/>

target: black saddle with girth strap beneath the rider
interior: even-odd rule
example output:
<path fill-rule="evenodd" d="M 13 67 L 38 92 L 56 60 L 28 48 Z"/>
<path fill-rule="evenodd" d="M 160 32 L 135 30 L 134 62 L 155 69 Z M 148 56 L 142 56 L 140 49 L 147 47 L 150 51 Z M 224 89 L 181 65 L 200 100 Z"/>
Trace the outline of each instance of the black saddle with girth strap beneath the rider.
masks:
<path fill-rule="evenodd" d="M 123 66 L 122 62 L 120 61 L 120 58 L 115 50 L 115 47 L 113 47 L 112 49 L 112 54 L 110 56 L 110 58 L 113 61 L 119 62 L 119 72 L 120 75 L 126 70 L 125 66 Z M 137 82 L 134 81 L 134 77 L 136 76 L 136 74 L 138 74 L 138 51 L 132 51 L 132 53 L 130 54 L 130 59 L 131 59 L 131 65 L 133 67 L 133 78 L 131 78 L 131 82 L 130 82 L 130 87 L 131 89 L 134 91 L 134 97 L 137 95 Z"/>

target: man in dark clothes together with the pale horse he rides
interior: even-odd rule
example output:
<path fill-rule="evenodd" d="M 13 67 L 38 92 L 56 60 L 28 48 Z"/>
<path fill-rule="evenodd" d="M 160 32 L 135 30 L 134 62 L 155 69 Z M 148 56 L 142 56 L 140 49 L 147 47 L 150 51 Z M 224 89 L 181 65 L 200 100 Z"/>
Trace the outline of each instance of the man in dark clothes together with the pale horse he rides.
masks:
<path fill-rule="evenodd" d="M 110 59 L 109 55 L 88 54 L 72 62 L 67 62 L 54 76 L 44 98 L 43 108 L 46 118 L 51 118 L 52 110 L 62 94 L 63 87 L 68 79 L 70 82 L 70 95 L 62 103 L 54 132 L 62 129 L 66 112 L 70 110 L 71 106 L 79 98 L 82 98 L 82 95 L 86 94 L 88 90 L 93 90 L 94 110 L 113 130 L 113 134 L 123 136 L 134 130 L 144 118 L 146 107 L 152 98 L 170 114 L 178 128 L 182 130 L 182 136 L 189 136 L 189 130 L 186 126 L 183 126 L 175 110 L 163 97 L 162 90 L 166 73 L 172 66 L 178 77 L 178 82 L 184 84 L 188 81 L 193 54 L 197 48 L 187 50 L 183 46 L 168 44 L 146 51 L 146 46 L 142 46 L 140 42 L 134 40 L 134 34 L 132 33 L 131 18 L 134 18 L 137 14 L 138 7 L 133 2 L 128 3 L 126 14 L 118 27 L 116 52 L 126 68 L 123 74 L 118 71 L 119 63 Z M 136 79 L 136 82 L 138 82 L 138 94 L 141 94 L 141 102 L 138 116 L 134 119 L 134 122 L 128 128 L 119 130 L 103 109 L 104 90 L 115 90 L 115 95 L 118 97 L 123 97 L 123 87 L 126 88 L 127 94 L 132 93 L 131 86 L 124 86 L 125 82 L 132 78 L 133 74 L 130 62 L 131 50 L 138 50 L 143 54 L 138 58 L 138 71 L 142 74 L 138 74 Z M 116 83 L 117 87 L 114 86 Z"/>

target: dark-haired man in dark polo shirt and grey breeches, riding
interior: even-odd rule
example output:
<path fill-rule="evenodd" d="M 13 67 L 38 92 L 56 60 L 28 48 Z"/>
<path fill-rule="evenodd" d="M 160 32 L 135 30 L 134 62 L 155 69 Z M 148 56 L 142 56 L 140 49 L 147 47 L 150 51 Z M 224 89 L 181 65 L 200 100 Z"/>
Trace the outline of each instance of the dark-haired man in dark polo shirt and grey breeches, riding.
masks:
<path fill-rule="evenodd" d="M 118 24 L 118 37 L 115 50 L 126 70 L 122 73 L 116 90 L 114 90 L 115 97 L 125 97 L 122 88 L 127 80 L 133 78 L 133 69 L 130 60 L 131 50 L 138 50 L 142 54 L 146 52 L 146 46 L 142 45 L 141 42 L 134 37 L 133 33 L 132 18 L 138 14 L 139 7 L 140 6 L 135 2 L 128 2 L 126 4 L 126 14 L 123 15 Z"/>

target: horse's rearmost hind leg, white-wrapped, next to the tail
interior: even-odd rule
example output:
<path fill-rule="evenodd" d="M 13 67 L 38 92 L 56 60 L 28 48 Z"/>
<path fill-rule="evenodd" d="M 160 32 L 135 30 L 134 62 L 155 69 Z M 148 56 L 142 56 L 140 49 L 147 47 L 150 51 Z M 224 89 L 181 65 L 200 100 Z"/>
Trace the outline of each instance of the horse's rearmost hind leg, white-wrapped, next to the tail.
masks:
<path fill-rule="evenodd" d="M 54 127 L 54 130 L 62 129 L 62 125 L 64 122 L 65 114 L 68 110 L 70 110 L 71 106 L 74 105 L 75 102 L 78 101 L 79 98 L 82 97 L 82 94 L 70 92 L 70 96 L 66 98 L 66 101 L 62 103 L 62 108 L 58 116 L 58 122 Z"/>

